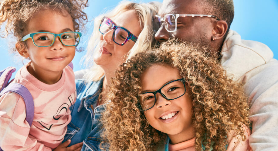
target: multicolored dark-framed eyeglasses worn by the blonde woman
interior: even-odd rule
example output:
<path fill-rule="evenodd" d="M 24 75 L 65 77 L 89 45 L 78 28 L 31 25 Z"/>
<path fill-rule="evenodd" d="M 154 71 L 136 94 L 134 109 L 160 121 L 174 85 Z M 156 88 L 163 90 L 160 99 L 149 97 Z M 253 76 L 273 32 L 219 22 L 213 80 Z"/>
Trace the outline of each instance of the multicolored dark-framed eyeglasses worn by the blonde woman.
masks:
<path fill-rule="evenodd" d="M 113 41 L 120 46 L 123 46 L 129 39 L 136 42 L 137 37 L 130 31 L 121 26 L 116 26 L 110 18 L 103 17 L 100 23 L 99 31 L 101 34 L 105 34 L 113 29 Z"/>

